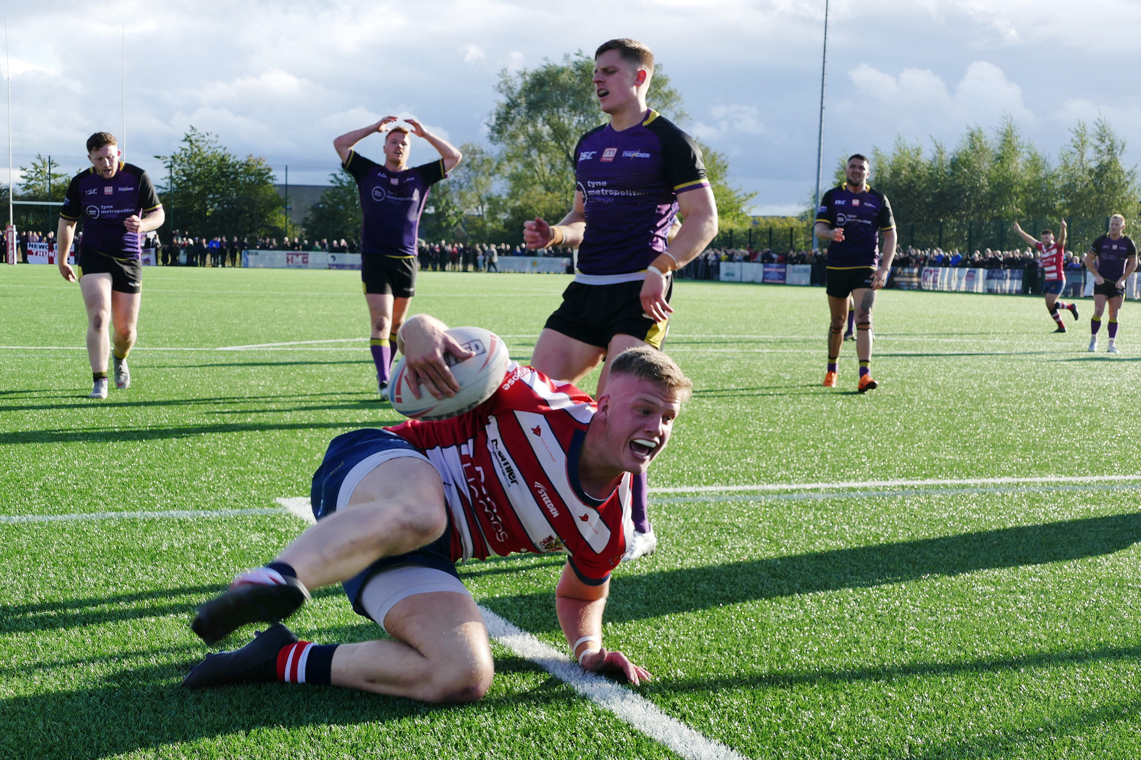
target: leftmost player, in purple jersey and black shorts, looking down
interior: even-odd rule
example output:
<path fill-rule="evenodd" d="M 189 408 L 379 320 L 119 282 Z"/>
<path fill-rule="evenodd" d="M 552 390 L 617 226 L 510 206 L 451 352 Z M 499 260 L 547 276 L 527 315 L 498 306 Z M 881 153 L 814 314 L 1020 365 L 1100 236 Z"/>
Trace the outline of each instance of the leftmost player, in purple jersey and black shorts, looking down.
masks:
<path fill-rule="evenodd" d="M 138 166 L 120 161 L 120 155 L 119 141 L 110 132 L 96 132 L 87 139 L 91 169 L 73 177 L 67 186 L 56 232 L 59 273 L 68 283 L 79 280 L 87 308 L 87 358 L 95 379 L 88 397 L 91 399 L 107 398 L 107 354 L 112 353 L 112 344 L 115 387 L 131 385 L 127 356 L 138 336 L 143 239 L 165 220 L 151 178 Z M 67 252 L 80 219 L 83 240 L 72 269 Z M 108 336 L 110 326 L 114 326 L 113 336 Z"/>

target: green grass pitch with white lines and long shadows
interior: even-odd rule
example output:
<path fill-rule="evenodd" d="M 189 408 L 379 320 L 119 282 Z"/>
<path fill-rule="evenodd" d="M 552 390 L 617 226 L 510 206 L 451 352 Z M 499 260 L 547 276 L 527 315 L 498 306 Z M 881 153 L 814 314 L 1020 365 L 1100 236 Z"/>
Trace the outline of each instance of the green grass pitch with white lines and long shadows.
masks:
<path fill-rule="evenodd" d="M 133 386 L 98 402 L 78 287 L 48 267 L 0 272 L 0 516 L 269 508 L 308 493 L 331 438 L 399 422 L 374 400 L 365 342 L 218 350 L 365 336 L 356 272 L 145 280 Z M 526 361 L 566 280 L 422 273 L 414 310 L 515 336 Z M 841 386 L 819 387 L 819 288 L 682 281 L 674 305 L 667 350 L 697 392 L 653 487 L 1044 480 L 658 493 L 659 549 L 616 571 L 607 608 L 607 645 L 657 677 L 637 692 L 754 758 L 1141 754 L 1141 489 L 1052 480 L 1141 472 L 1136 304 L 1109 357 L 1084 351 L 1090 301 L 1054 335 L 1041 299 L 883 293 L 866 395 L 851 344 Z M 492 693 L 461 708 L 181 690 L 207 652 L 192 611 L 302 528 L 284 513 L 0 524 L 0 757 L 675 757 L 497 646 Z M 462 574 L 561 648 L 560 564 Z M 290 626 L 379 635 L 338 589 Z"/>

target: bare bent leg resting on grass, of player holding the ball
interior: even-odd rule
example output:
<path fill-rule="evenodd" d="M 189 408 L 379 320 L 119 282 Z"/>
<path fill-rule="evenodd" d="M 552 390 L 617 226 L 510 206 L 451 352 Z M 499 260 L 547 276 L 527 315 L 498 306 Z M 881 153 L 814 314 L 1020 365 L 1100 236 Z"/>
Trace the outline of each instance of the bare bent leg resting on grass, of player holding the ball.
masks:
<path fill-rule="evenodd" d="M 334 685 L 427 702 L 472 702 L 487 693 L 495 665 L 471 597 L 416 594 L 397 602 L 383 623 L 395 641 L 337 647 Z"/>

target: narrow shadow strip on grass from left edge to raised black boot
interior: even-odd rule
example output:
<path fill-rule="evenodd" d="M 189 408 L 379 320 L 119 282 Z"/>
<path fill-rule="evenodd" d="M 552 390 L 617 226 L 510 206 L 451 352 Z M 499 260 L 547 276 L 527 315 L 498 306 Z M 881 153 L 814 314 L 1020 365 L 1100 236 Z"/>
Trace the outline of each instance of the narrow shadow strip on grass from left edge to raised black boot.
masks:
<path fill-rule="evenodd" d="M 185 614 L 189 627 L 191 615 L 199 605 L 225 588 L 225 583 L 209 583 L 60 602 L 5 604 L 0 605 L 0 634 L 60 630 L 171 614 Z M 330 586 L 314 591 L 313 597 L 341 594 L 339 586 Z"/>

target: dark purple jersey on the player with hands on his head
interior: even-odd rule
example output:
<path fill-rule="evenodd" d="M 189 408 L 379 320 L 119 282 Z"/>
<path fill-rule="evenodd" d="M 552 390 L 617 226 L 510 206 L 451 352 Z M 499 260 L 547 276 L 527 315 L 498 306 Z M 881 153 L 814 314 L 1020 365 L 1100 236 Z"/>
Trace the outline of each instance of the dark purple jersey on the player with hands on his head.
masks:
<path fill-rule="evenodd" d="M 364 216 L 361 253 L 415 256 L 420 214 L 428 201 L 428 188 L 447 177 L 444 160 L 394 172 L 349 150 L 345 170 L 353 174 L 361 190 Z"/>

